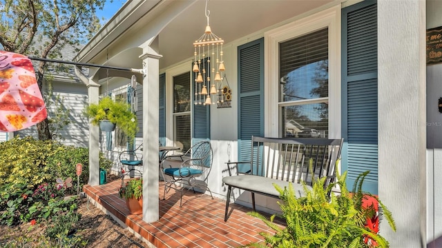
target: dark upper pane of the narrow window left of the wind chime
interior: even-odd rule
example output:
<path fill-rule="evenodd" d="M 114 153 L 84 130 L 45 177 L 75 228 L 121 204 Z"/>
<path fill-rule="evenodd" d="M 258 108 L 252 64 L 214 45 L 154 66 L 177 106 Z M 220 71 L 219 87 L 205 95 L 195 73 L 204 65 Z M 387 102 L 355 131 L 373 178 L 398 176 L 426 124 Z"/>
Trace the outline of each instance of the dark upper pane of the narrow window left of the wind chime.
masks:
<path fill-rule="evenodd" d="M 190 74 L 184 74 L 173 77 L 173 112 L 191 111 L 191 92 L 190 92 Z"/>

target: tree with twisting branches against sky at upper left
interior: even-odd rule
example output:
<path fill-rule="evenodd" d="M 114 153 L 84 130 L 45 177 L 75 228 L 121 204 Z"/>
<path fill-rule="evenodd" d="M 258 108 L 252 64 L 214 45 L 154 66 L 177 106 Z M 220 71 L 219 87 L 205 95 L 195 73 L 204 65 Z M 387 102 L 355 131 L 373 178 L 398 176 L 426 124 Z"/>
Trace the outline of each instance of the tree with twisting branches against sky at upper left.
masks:
<path fill-rule="evenodd" d="M 78 48 L 100 28 L 95 14 L 105 0 L 1 0 L 0 44 L 3 50 L 40 58 L 61 58 L 66 45 Z M 39 62 L 41 90 L 46 62 Z M 37 124 L 39 139 L 48 140 L 48 119 Z"/>

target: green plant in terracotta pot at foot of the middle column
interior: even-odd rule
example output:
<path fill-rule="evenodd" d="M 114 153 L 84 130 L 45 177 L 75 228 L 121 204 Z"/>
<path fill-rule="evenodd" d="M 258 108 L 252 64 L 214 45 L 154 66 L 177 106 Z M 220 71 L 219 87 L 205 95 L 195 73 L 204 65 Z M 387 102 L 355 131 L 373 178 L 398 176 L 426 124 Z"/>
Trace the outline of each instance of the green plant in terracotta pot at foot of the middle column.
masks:
<path fill-rule="evenodd" d="M 142 214 L 143 212 L 143 180 L 135 178 L 128 180 L 124 186 L 119 187 L 119 198 L 126 199 L 126 206 L 131 214 Z"/>

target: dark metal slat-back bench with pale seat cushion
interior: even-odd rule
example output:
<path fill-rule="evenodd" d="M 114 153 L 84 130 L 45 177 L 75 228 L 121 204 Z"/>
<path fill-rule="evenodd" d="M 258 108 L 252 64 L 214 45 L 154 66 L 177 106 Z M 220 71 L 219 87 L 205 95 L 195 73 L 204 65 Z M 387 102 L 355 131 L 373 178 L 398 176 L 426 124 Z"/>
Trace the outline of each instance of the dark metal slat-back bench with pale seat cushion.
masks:
<path fill-rule="evenodd" d="M 250 161 L 227 163 L 229 176 L 222 178 L 228 186 L 224 221 L 228 218 L 233 187 L 251 192 L 253 211 L 256 211 L 255 194 L 279 198 L 273 183 L 280 187 L 292 183 L 298 197 L 305 196 L 301 181 L 311 189 L 317 178 L 326 176 L 327 187 L 336 177 L 335 164 L 342 144 L 343 139 L 252 136 Z M 232 175 L 231 165 L 235 165 L 236 175 Z"/>

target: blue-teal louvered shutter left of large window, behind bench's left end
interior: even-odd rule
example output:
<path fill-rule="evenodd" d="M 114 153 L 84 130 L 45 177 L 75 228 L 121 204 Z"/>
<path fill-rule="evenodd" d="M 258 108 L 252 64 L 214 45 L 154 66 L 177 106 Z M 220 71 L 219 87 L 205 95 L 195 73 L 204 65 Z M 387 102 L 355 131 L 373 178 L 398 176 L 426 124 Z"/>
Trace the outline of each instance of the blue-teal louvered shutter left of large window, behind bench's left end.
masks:
<path fill-rule="evenodd" d="M 250 161 L 251 136 L 264 135 L 263 123 L 264 39 L 258 39 L 238 47 L 239 161 Z"/>

